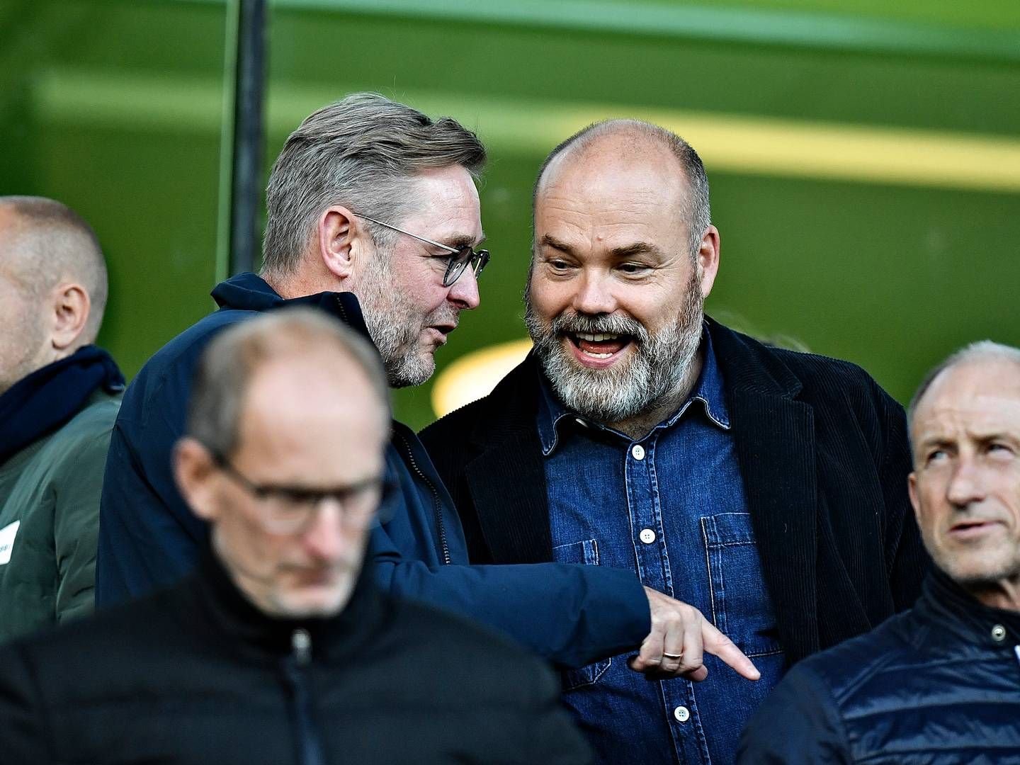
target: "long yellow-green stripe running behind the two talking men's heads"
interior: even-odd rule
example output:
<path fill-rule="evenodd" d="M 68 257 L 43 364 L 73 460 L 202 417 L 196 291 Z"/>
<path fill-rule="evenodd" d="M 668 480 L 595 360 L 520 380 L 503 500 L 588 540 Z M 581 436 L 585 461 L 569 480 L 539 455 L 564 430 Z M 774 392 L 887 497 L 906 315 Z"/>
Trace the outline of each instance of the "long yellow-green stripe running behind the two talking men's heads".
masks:
<path fill-rule="evenodd" d="M 45 120 L 172 132 L 219 129 L 222 83 L 169 76 L 52 70 L 36 88 Z M 319 106 L 343 97 L 326 86 L 271 84 L 267 128 L 274 141 Z M 714 170 L 935 189 L 1020 192 L 1020 140 L 1010 136 L 811 122 L 743 114 L 388 92 L 477 131 L 492 150 L 544 155 L 584 125 L 641 117 L 685 138 Z"/>

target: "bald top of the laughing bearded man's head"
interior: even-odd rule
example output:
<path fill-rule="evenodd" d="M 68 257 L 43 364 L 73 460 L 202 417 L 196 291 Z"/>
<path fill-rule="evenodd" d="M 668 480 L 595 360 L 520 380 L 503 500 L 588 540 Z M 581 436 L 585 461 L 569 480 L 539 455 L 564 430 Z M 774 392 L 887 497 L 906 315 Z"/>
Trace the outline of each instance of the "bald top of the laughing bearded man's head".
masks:
<path fill-rule="evenodd" d="M 690 233 L 696 253 L 711 223 L 708 177 L 698 152 L 676 134 L 641 119 L 606 119 L 578 131 L 553 149 L 539 171 L 533 206 L 548 185 L 564 170 L 586 165 L 593 174 L 610 167 L 626 168 L 647 163 L 677 189 L 675 202 Z"/>

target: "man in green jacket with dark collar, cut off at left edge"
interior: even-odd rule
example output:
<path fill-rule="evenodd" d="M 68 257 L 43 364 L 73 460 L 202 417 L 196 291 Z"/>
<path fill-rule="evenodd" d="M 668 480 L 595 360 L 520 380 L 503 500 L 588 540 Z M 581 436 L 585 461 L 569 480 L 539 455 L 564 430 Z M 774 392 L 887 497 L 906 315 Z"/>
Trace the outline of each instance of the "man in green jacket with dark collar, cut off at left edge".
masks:
<path fill-rule="evenodd" d="M 106 265 L 52 199 L 0 197 L 0 643 L 92 611 L 123 377 L 92 343 Z"/>

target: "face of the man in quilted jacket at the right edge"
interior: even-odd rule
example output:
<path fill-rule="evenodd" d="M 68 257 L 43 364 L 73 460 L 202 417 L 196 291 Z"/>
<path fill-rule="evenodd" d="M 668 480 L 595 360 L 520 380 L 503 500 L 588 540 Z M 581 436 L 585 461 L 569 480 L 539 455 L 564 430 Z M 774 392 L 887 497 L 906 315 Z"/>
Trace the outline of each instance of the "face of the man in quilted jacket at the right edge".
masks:
<path fill-rule="evenodd" d="M 1015 593 L 1020 365 L 979 359 L 944 371 L 917 405 L 912 438 L 910 497 L 935 564 L 990 604 Z"/>

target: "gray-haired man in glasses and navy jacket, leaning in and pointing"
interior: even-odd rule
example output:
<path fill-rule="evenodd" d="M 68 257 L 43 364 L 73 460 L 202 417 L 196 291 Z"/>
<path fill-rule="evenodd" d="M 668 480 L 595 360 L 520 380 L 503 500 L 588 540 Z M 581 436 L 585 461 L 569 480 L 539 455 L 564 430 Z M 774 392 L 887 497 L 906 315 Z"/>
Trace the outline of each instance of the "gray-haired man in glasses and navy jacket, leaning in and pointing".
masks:
<path fill-rule="evenodd" d="M 313 305 L 371 338 L 391 386 L 431 374 L 460 312 L 478 304 L 489 255 L 473 249 L 482 240 L 473 176 L 484 156 L 454 120 L 370 94 L 320 109 L 291 135 L 269 178 L 261 275 L 219 285 L 220 310 L 157 352 L 125 394 L 103 487 L 99 605 L 172 582 L 195 564 L 205 524 L 175 489 L 169 455 L 196 358 L 222 327 Z M 647 593 L 628 571 L 468 566 L 449 494 L 397 422 L 387 461 L 401 508 L 371 539 L 385 590 L 467 614 L 572 666 L 634 648 L 651 629 L 642 657 L 657 667 L 679 604 Z"/>

